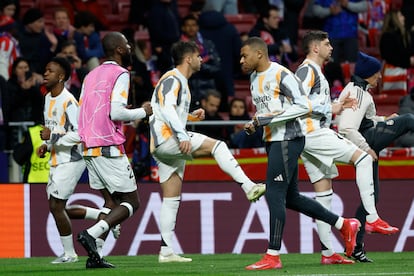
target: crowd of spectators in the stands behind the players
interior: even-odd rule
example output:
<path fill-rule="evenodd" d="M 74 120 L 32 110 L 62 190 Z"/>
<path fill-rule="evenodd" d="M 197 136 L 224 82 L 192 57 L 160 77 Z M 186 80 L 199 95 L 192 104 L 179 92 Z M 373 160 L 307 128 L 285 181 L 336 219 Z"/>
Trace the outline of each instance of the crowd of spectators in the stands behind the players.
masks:
<path fill-rule="evenodd" d="M 254 113 L 254 110 L 247 108 L 249 103 L 245 95 L 235 89 L 235 82 L 248 78 L 248 72 L 240 69 L 239 55 L 242 40 L 249 36 L 262 37 L 268 44 L 270 56 L 294 71 L 303 59 L 300 30 L 320 28 L 327 31 L 334 47 L 333 59 L 330 66 L 326 67 L 333 70 L 330 72 L 331 69 L 326 69 L 333 98 L 338 96 L 347 81 L 338 68 L 343 69 L 344 64 L 351 64 L 347 67 L 350 70 L 347 73 L 352 74 L 354 57 L 361 47 L 366 46 L 361 45 L 361 36 L 367 38 L 368 46 L 376 47 L 377 56 L 386 63 L 392 63 L 392 59 L 397 57 L 393 55 L 393 36 L 401 36 L 406 53 L 404 66 L 401 67 L 407 69 L 408 78 L 412 74 L 410 68 L 413 67 L 414 45 L 411 42 L 411 1 L 186 2 L 189 5 L 183 12 L 180 0 L 130 1 L 129 18 L 118 31 L 124 33 L 132 44 L 132 106 L 148 101 L 159 76 L 172 68 L 169 50 L 178 40 L 193 40 L 199 45 L 203 64 L 200 72 L 189 80 L 193 93 L 191 107 L 202 106 L 211 91 L 215 91 L 220 100 L 216 114 L 212 116 L 214 120 L 219 115 L 225 119 L 248 120 Z M 397 2 L 400 5 L 396 5 Z M 76 98 L 79 97 L 85 75 L 102 61 L 100 38 L 107 30 L 114 30 L 114 27 L 111 26 L 110 17 L 104 15 L 100 1 L 61 0 L 61 4 L 53 11 L 42 10 L 41 7 L 45 5 L 33 5 L 22 10 L 19 0 L 1 1 L 0 150 L 12 150 L 19 142 L 16 128 L 9 127 L 9 122 L 32 121 L 37 124 L 42 121 L 41 110 L 46 92 L 42 86 L 42 74 L 45 64 L 52 57 L 64 56 L 72 64 L 73 72 L 65 85 Z M 401 24 L 388 26 L 392 20 L 385 15 L 390 17 L 394 10 L 397 13 L 392 18 L 394 21 L 398 14 L 405 17 L 402 27 Z M 237 14 L 253 14 L 257 21 L 252 22 L 248 32 L 240 32 L 237 26 L 227 20 L 228 15 Z M 335 27 L 338 22 L 346 22 L 347 28 Z M 383 22 L 387 35 L 380 36 Z M 137 38 L 137 32 L 147 33 L 148 38 Z M 381 37 L 378 45 L 374 45 L 373 33 L 375 38 Z M 393 47 L 389 47 L 389 41 Z M 407 82 L 405 94 L 410 88 Z M 239 98 L 236 103 L 244 106 L 245 113 L 242 115 L 229 113 L 233 109 L 230 103 L 234 104 L 234 98 Z M 142 130 L 142 126 L 138 129 Z M 218 129 L 216 127 L 215 130 Z M 241 143 L 245 138 L 237 134 L 237 126 L 224 127 L 219 132 L 220 136 L 216 138 L 226 141 L 231 147 L 262 146 L 251 141 Z"/>

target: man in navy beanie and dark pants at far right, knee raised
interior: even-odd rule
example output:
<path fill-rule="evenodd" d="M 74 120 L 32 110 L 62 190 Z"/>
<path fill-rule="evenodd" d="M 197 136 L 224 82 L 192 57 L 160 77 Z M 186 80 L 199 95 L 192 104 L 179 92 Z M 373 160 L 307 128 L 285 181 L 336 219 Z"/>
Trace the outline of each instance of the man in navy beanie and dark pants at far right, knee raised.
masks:
<path fill-rule="evenodd" d="M 374 160 L 373 177 L 376 203 L 379 200 L 379 152 L 404 133 L 414 131 L 414 115 L 412 114 L 377 115 L 369 89 L 376 87 L 380 78 L 381 63 L 376 58 L 359 52 L 355 73 L 339 96 L 339 100 L 341 100 L 350 93 L 350 97 L 358 99 L 358 106 L 355 109 L 345 109 L 337 116 L 339 133 L 360 149 L 368 152 Z M 356 217 L 362 225 L 365 225 L 365 228 L 361 227 L 357 235 L 356 247 L 352 253 L 352 257 L 359 262 L 372 262 L 365 255 L 363 243 L 365 232 L 370 232 L 368 225 L 365 224 L 366 214 L 367 212 L 361 204 L 356 211 Z M 395 233 L 399 231 L 398 228 L 396 230 Z"/>

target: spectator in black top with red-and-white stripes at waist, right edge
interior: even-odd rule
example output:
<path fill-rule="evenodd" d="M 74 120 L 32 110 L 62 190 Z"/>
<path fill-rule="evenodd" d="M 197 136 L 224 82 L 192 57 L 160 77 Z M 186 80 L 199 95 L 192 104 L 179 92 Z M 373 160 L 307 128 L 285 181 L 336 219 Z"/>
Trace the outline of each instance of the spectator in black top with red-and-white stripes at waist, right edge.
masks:
<path fill-rule="evenodd" d="M 401 11 L 391 10 L 385 15 L 379 48 L 381 57 L 385 60 L 381 91 L 406 95 L 407 69 L 414 67 L 414 51 Z"/>

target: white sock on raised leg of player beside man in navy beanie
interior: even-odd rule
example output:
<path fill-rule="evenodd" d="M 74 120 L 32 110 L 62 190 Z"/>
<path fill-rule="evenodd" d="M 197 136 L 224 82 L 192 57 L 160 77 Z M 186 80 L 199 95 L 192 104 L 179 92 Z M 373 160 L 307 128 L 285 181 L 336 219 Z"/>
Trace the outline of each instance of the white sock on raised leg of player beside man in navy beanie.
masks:
<path fill-rule="evenodd" d="M 361 154 L 355 162 L 356 182 L 361 196 L 362 204 L 368 212 L 367 221 L 373 222 L 378 218 L 375 208 L 374 180 L 372 176 L 372 157 L 367 153 Z M 368 218 L 370 220 L 368 220 Z"/>

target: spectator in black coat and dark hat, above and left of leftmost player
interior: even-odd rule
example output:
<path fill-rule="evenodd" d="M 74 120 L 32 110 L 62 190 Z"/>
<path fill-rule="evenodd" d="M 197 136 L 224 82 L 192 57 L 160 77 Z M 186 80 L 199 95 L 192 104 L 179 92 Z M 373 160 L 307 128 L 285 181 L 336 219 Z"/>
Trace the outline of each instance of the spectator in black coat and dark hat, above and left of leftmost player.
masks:
<path fill-rule="evenodd" d="M 43 13 L 37 8 L 30 8 L 23 15 L 23 30 L 19 34 L 22 56 L 30 64 L 33 72 L 43 74 L 49 60 L 55 55 L 58 40 L 45 28 Z"/>

